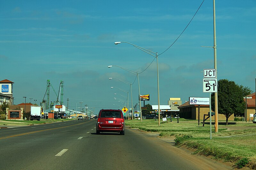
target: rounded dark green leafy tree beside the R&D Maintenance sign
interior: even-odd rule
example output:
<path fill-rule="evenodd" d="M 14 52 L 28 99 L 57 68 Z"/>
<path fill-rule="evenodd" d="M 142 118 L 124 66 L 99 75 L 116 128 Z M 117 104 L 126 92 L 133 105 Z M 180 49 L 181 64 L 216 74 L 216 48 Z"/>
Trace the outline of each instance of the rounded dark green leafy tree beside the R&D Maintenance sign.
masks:
<path fill-rule="evenodd" d="M 228 125 L 228 118 L 231 115 L 244 113 L 245 102 L 243 89 L 245 90 L 246 88 L 237 85 L 234 81 L 227 79 L 220 79 L 218 81 L 218 112 L 225 115 L 226 125 Z M 215 111 L 214 93 L 211 94 L 211 98 L 212 110 Z"/>

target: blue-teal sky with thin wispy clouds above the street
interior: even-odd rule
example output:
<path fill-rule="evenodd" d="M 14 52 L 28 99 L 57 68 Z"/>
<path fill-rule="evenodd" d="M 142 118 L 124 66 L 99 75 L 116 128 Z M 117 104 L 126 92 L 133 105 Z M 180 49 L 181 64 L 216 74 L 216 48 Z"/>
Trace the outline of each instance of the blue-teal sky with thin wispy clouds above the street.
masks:
<path fill-rule="evenodd" d="M 48 79 L 50 101 L 56 101 L 52 89 L 58 93 L 63 80 L 64 105 L 69 99 L 69 109 L 87 105 L 97 114 L 123 107 L 130 85 L 120 80 L 132 83 L 133 103 L 139 103 L 136 75 L 123 67 L 139 73 L 140 93 L 150 94 L 145 104 L 157 105 L 156 57 L 128 43 L 114 44 L 125 41 L 158 53 L 160 105 L 170 98 L 185 103 L 209 97 L 202 71 L 214 68 L 214 51 L 201 46 L 213 46 L 213 1 L 204 0 L 198 10 L 202 2 L 1 0 L 0 80 L 14 82 L 14 104 L 25 102 L 23 96 L 39 104 Z M 217 78 L 255 92 L 256 1 L 216 0 L 215 5 Z"/>

